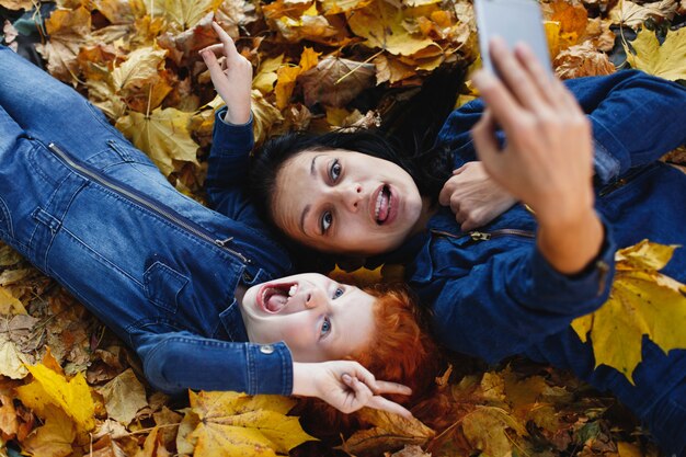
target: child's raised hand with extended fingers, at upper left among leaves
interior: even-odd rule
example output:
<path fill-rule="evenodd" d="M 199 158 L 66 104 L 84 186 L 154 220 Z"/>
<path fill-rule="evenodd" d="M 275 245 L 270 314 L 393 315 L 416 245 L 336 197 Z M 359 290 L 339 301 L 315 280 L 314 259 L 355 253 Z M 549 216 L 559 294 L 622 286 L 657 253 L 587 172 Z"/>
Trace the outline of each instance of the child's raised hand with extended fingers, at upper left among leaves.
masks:
<path fill-rule="evenodd" d="M 207 65 L 211 83 L 228 107 L 225 121 L 231 124 L 245 124 L 250 121 L 250 90 L 252 87 L 252 64 L 236 49 L 233 39 L 216 22 L 213 22 L 221 44 L 202 49 L 201 56 Z M 217 59 L 217 55 L 224 59 Z"/>

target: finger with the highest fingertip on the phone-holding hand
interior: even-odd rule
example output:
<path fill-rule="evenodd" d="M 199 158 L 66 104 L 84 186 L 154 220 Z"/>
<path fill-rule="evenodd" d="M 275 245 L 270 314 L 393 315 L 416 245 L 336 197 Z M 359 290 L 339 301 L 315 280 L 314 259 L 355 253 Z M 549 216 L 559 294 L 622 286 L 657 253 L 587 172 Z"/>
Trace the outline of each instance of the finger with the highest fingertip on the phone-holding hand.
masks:
<path fill-rule="evenodd" d="M 542 99 L 528 71 L 525 70 L 515 58 L 515 55 L 507 48 L 505 41 L 501 37 L 494 37 L 491 39 L 489 49 L 493 65 L 498 69 L 499 78 L 502 79 L 522 106 L 528 108 L 541 107 L 545 99 Z"/>

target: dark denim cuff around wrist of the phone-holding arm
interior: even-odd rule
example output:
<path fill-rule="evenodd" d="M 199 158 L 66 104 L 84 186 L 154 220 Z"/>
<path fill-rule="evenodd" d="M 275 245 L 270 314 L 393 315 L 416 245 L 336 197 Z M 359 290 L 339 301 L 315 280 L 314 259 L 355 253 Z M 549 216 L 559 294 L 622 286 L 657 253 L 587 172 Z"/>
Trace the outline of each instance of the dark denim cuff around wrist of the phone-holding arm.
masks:
<path fill-rule="evenodd" d="M 583 316 L 599 308 L 609 295 L 615 267 L 615 241 L 608 225 L 603 221 L 605 235 L 597 255 L 580 273 L 567 275 L 558 272 L 544 256 L 538 247 L 531 259 L 531 277 L 536 283 L 540 301 L 536 308 L 552 313 Z M 560 309 L 559 297 L 567 297 Z"/>

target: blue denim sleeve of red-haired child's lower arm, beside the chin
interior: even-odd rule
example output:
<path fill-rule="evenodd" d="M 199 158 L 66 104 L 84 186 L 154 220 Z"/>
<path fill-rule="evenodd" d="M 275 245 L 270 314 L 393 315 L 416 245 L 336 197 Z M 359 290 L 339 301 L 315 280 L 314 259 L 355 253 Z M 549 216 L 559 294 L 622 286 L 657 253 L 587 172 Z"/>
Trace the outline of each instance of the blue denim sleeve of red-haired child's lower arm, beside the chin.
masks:
<path fill-rule="evenodd" d="M 168 393 L 194 389 L 288 396 L 293 391 L 293 359 L 284 343 L 236 343 L 190 332 L 145 333 L 136 343 L 148 381 Z"/>

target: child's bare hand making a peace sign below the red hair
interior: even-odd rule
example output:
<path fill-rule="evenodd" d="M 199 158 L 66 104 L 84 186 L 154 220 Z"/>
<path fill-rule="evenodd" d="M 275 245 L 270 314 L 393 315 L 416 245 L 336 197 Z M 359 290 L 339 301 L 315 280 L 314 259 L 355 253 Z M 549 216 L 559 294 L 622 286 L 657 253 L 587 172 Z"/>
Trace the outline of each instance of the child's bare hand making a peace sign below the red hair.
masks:
<path fill-rule="evenodd" d="M 344 413 L 367 407 L 412 416 L 400 404 L 381 397 L 385 393 L 411 395 L 412 390 L 401 384 L 376 380 L 357 362 L 294 362 L 293 378 L 293 395 L 320 398 Z"/>

